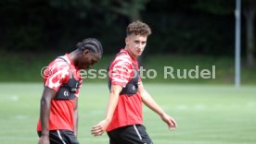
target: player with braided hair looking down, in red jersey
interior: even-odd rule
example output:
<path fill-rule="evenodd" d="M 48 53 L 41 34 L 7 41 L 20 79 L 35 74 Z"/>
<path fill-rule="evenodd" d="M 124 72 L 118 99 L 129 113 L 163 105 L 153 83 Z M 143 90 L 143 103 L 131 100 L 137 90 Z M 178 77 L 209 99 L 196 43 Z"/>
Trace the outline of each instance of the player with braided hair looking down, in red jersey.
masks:
<path fill-rule="evenodd" d="M 78 144 L 78 97 L 83 82 L 79 72 L 101 59 L 101 43 L 94 38 L 78 42 L 70 54 L 57 57 L 44 72 L 45 89 L 37 125 L 39 144 Z"/>

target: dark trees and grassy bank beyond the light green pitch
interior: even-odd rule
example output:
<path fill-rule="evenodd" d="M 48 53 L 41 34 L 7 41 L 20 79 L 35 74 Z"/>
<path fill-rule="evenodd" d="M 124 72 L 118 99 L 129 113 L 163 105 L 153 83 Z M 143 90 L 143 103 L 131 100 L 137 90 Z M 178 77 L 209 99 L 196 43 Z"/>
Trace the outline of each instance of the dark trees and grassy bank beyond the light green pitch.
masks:
<path fill-rule="evenodd" d="M 242 1 L 242 84 L 256 83 L 255 3 Z M 126 26 L 139 19 L 153 32 L 142 56 L 146 68 L 216 66 L 214 79 L 145 81 L 232 84 L 235 7 L 235 0 L 2 0 L 0 81 L 42 81 L 43 66 L 88 37 L 102 42 L 104 56 L 96 68 L 106 68 L 124 46 Z"/>

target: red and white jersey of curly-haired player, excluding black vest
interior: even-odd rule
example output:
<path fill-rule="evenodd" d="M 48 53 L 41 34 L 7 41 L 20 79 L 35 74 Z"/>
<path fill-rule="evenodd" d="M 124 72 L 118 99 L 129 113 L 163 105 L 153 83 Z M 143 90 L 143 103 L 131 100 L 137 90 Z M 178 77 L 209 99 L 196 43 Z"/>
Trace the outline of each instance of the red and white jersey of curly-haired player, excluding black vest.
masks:
<path fill-rule="evenodd" d="M 109 66 L 109 80 L 111 85 L 119 85 L 125 88 L 127 83 L 134 78 L 134 66 L 139 69 L 137 60 L 128 51 L 122 49 Z M 140 83 L 141 78 L 138 79 L 138 84 Z M 107 131 L 122 126 L 142 123 L 141 96 L 138 92 L 132 96 L 121 94 Z"/>

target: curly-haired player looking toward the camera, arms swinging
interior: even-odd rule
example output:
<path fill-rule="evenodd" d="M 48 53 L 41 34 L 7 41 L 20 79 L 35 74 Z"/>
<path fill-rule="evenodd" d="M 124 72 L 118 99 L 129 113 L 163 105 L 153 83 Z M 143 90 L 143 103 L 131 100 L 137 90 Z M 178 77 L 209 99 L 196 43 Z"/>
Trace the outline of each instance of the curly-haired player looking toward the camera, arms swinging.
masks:
<path fill-rule="evenodd" d="M 106 117 L 92 127 L 92 135 L 108 132 L 109 144 L 151 144 L 143 126 L 142 102 L 160 115 L 171 130 L 176 128 L 174 119 L 166 114 L 144 89 L 138 75 L 137 58 L 143 53 L 147 36 L 151 34 L 147 24 L 135 21 L 126 30 L 125 47 L 109 66 L 109 104 Z"/>

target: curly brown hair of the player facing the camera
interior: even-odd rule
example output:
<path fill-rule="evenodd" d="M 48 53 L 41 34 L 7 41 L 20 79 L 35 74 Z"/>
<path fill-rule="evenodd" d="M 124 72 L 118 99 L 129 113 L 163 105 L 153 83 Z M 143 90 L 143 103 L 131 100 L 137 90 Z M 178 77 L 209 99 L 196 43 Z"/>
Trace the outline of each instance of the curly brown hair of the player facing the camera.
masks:
<path fill-rule="evenodd" d="M 127 26 L 126 35 L 129 36 L 131 34 L 148 36 L 151 34 L 151 29 L 146 23 L 137 20 Z"/>

